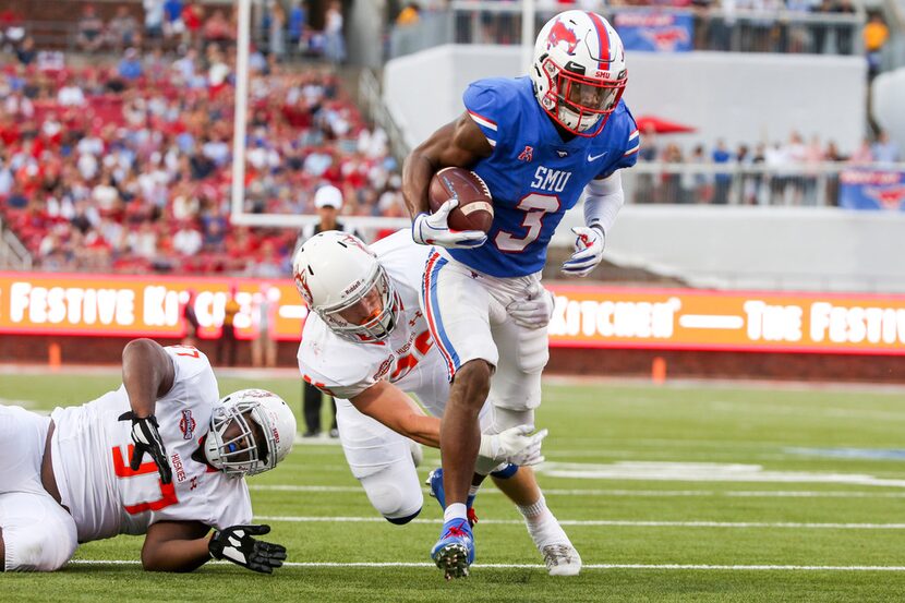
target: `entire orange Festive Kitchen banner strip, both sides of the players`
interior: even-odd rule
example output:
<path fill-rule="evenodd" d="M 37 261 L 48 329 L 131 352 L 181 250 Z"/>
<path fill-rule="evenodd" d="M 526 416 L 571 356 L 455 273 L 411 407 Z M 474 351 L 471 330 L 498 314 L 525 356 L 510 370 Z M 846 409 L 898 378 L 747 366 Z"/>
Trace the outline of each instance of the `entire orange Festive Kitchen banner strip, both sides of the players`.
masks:
<path fill-rule="evenodd" d="M 266 312 L 276 339 L 299 340 L 307 309 L 289 279 L 44 273 L 0 273 L 0 334 L 179 338 L 191 294 L 198 336 L 216 338 L 231 287 L 239 338 Z M 905 354 L 905 296 L 547 287 L 552 347 Z"/>

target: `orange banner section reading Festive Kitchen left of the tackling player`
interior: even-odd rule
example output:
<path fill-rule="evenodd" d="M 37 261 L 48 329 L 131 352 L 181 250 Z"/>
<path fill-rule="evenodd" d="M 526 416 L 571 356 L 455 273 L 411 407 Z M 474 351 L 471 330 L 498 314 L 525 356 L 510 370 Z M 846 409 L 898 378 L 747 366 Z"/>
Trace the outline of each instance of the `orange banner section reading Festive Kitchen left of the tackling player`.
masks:
<path fill-rule="evenodd" d="M 307 307 L 289 279 L 180 278 L 0 273 L 0 333 L 182 337 L 190 297 L 197 336 L 220 335 L 230 288 L 241 310 L 236 335 L 251 339 L 262 307 L 276 339 L 299 339 Z M 263 303 L 265 299 L 268 303 Z"/>

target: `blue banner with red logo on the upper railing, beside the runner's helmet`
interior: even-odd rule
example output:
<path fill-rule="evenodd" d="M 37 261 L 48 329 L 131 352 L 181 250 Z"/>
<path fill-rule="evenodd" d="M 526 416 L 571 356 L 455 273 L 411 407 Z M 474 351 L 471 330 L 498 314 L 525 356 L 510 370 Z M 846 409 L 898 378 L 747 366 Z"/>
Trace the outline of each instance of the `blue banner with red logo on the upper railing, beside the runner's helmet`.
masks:
<path fill-rule="evenodd" d="M 688 52 L 695 40 L 690 14 L 631 11 L 616 14 L 613 22 L 626 50 Z"/>

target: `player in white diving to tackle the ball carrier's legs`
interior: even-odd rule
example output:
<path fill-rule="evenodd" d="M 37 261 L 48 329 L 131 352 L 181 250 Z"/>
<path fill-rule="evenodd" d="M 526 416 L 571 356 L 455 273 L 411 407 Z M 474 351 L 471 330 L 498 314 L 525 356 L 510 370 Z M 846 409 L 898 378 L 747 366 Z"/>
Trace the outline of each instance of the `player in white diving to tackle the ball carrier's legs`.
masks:
<path fill-rule="evenodd" d="M 419 305 L 429 252 L 408 230 L 370 249 L 350 234 L 322 232 L 293 261 L 295 285 L 312 310 L 299 367 L 305 381 L 336 398 L 339 438 L 352 474 L 374 508 L 397 524 L 414 519 L 423 505 L 411 441 L 439 447 L 436 417 L 449 394 L 443 357 Z M 426 415 L 407 394 L 436 417 Z M 490 424 L 490 406 L 486 410 L 483 419 Z M 488 469 L 475 477 L 472 497 L 502 461 L 543 459 L 546 432 L 529 436 L 531 431 L 533 425 L 520 425 L 482 436 L 480 454 Z M 492 477 L 526 517 L 550 574 L 578 574 L 581 558 L 546 508 L 533 472 L 508 466 Z M 432 475 L 431 485 L 443 505 L 442 475 Z"/>

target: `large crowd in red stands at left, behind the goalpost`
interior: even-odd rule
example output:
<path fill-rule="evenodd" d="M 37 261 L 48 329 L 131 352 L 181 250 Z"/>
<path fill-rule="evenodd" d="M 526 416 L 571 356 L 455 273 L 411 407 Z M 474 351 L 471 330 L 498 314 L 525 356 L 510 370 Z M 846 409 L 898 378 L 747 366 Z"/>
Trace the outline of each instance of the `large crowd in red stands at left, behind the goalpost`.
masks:
<path fill-rule="evenodd" d="M 386 135 L 326 68 L 251 57 L 246 209 L 401 216 Z M 0 73 L 0 216 L 45 269 L 289 272 L 298 232 L 229 222 L 234 50 L 118 63 L 9 63 Z"/>

